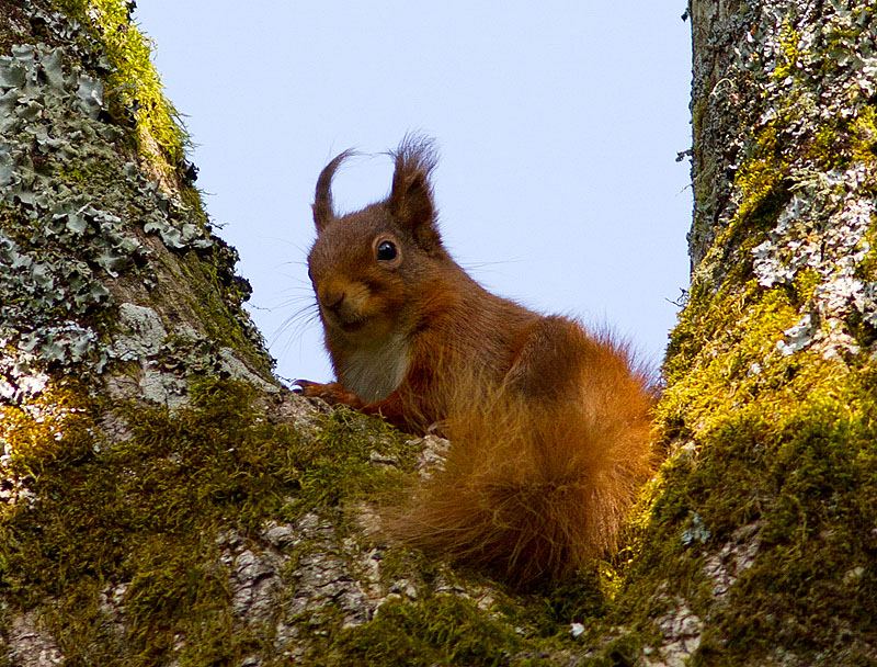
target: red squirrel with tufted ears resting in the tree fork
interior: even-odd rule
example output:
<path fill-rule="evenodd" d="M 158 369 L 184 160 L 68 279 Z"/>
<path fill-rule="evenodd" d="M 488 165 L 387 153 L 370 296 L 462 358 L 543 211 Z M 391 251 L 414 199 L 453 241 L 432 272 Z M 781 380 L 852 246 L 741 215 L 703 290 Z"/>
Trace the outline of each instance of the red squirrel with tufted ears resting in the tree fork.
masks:
<path fill-rule="evenodd" d="M 607 335 L 496 296 L 451 258 L 432 140 L 406 137 L 387 199 L 339 216 L 350 155 L 317 181 L 308 256 L 338 380 L 300 391 L 451 440 L 443 470 L 385 512 L 390 536 L 512 584 L 569 575 L 614 545 L 652 470 L 647 374 Z"/>

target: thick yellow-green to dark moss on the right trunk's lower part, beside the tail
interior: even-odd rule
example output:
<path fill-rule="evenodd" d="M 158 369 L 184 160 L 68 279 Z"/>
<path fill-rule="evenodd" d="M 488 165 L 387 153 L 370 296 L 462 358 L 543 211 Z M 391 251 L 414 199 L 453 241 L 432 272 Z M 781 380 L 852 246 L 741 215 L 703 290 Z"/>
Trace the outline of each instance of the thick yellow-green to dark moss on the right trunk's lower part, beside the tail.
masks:
<path fill-rule="evenodd" d="M 768 290 L 695 283 L 671 335 L 656 414 L 661 439 L 688 446 L 652 484 L 649 540 L 618 596 L 624 613 L 613 613 L 647 629 L 680 595 L 708 619 L 694 665 L 754 664 L 777 645 L 807 655 L 838 633 L 875 630 L 862 610 L 876 589 L 861 585 L 877 576 L 874 371 L 866 359 L 847 366 L 776 349 L 819 282 L 802 270 Z M 733 545 L 741 527 L 756 531 L 758 552 L 716 604 L 705 558 Z M 850 651 L 850 664 L 864 656 Z"/>

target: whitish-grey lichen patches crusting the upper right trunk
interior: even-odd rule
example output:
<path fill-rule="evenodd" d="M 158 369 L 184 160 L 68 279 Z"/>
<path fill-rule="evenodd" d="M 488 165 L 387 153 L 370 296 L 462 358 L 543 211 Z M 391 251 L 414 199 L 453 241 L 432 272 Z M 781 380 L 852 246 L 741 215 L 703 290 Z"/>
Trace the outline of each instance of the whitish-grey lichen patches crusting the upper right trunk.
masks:
<path fill-rule="evenodd" d="M 751 263 L 765 291 L 802 294 L 776 341 L 784 357 L 845 360 L 877 329 L 873 20 L 866 2 L 743 3 L 698 45 L 693 282 L 717 290 L 729 267 Z M 710 48 L 719 36 L 732 49 Z M 715 54 L 727 58 L 718 80 Z"/>

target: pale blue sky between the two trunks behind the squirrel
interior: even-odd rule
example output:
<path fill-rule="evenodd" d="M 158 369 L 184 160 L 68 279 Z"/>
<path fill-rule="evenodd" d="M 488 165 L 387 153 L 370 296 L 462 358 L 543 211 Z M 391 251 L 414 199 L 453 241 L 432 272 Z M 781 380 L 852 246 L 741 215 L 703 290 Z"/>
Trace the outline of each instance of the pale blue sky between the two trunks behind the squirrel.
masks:
<path fill-rule="evenodd" d="M 287 378 L 328 380 L 305 258 L 317 176 L 409 131 L 441 148 L 446 244 L 488 289 L 629 337 L 660 360 L 688 282 L 685 0 L 610 3 L 138 0 L 220 236 Z M 340 210 L 381 199 L 360 158 Z"/>

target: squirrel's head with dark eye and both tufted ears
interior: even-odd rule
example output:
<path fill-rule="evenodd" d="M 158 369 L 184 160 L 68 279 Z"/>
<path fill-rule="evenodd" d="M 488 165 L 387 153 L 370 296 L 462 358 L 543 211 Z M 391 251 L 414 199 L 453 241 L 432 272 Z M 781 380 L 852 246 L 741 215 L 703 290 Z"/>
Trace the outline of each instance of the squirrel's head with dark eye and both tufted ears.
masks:
<path fill-rule="evenodd" d="M 387 199 L 339 216 L 332 177 L 351 155 L 335 157 L 317 180 L 317 240 L 308 255 L 308 275 L 328 338 L 377 341 L 410 326 L 414 296 L 452 260 L 435 222 L 432 142 L 406 137 L 390 152 L 396 169 Z"/>

